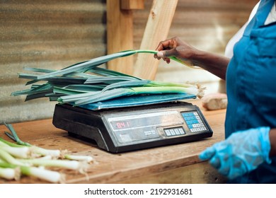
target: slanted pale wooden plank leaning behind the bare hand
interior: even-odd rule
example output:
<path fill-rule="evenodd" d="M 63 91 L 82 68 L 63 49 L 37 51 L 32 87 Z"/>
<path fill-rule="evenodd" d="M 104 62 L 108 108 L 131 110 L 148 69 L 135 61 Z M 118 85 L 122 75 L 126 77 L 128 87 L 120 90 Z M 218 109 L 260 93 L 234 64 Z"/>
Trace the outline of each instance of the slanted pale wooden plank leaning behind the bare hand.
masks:
<path fill-rule="evenodd" d="M 141 50 L 155 50 L 161 40 L 166 40 L 177 4 L 177 0 L 154 0 L 144 30 Z M 134 76 L 153 80 L 158 65 L 159 61 L 154 59 L 152 54 L 138 54 Z"/>

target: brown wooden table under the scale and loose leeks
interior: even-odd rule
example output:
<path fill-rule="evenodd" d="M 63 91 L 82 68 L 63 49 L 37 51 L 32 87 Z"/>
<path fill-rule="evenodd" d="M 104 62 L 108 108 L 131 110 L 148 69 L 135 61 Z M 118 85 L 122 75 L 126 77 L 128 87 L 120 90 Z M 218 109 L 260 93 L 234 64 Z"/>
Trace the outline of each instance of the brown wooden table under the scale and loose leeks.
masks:
<path fill-rule="evenodd" d="M 67 149 L 76 155 L 93 156 L 96 163 L 88 168 L 87 175 L 72 170 L 60 170 L 67 183 L 222 183 L 225 178 L 198 154 L 208 146 L 224 139 L 225 110 L 207 111 L 200 100 L 186 100 L 200 107 L 214 134 L 211 138 L 172 146 L 161 146 L 127 153 L 108 153 L 96 145 L 74 139 L 62 129 L 52 125 L 52 119 L 14 123 L 18 136 L 42 148 Z M 4 134 L 0 126 L 0 137 Z M 0 183 L 47 183 L 33 177 L 19 181 L 1 180 Z"/>

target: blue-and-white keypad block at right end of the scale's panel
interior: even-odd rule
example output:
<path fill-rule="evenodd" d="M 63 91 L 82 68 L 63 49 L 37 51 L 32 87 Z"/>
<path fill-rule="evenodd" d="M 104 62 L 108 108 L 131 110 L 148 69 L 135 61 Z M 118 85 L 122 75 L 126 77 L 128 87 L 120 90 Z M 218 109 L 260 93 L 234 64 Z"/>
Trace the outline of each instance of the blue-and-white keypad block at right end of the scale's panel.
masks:
<path fill-rule="evenodd" d="M 197 112 L 182 112 L 181 115 L 190 129 L 190 132 L 204 132 L 207 130 Z"/>

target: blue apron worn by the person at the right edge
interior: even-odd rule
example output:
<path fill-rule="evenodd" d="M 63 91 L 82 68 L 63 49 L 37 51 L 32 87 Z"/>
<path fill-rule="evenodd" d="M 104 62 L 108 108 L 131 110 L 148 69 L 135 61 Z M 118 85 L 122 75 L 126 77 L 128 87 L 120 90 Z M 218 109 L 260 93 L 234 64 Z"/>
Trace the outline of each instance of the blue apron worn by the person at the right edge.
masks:
<path fill-rule="evenodd" d="M 256 127 L 276 128 L 276 23 L 263 25 L 275 0 L 260 2 L 243 37 L 234 46 L 226 71 L 225 133 Z M 233 183 L 276 183 L 276 157 Z"/>

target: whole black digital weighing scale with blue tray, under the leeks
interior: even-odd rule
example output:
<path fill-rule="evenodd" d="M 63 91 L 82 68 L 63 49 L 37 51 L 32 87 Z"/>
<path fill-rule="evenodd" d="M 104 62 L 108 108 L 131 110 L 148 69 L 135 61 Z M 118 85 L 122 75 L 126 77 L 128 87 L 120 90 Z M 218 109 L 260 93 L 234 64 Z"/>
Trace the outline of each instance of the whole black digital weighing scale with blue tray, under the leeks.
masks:
<path fill-rule="evenodd" d="M 178 101 L 190 98 L 195 95 L 131 96 L 80 107 L 57 104 L 53 124 L 76 138 L 96 141 L 110 153 L 211 137 L 212 129 L 200 109 Z"/>

